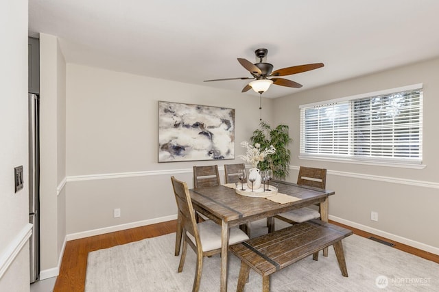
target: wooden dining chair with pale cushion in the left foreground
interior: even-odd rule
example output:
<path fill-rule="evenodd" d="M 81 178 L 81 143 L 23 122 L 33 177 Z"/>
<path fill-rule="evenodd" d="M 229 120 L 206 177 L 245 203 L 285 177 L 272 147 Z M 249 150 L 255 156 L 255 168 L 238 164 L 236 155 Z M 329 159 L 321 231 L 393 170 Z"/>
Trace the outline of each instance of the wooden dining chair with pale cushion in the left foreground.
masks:
<path fill-rule="evenodd" d="M 178 265 L 178 273 L 183 270 L 183 265 L 185 265 L 187 245 L 189 244 L 197 254 L 197 264 L 192 291 L 198 291 L 200 289 L 204 256 L 212 256 L 213 254 L 219 254 L 221 252 L 221 226 L 212 220 L 197 223 L 195 221 L 195 210 L 192 206 L 187 184 L 178 181 L 174 176 L 171 176 L 171 182 L 172 187 L 174 188 L 178 207 L 178 217 L 180 217 L 180 226 L 182 226 L 183 235 L 182 253 L 180 264 Z M 237 227 L 230 228 L 229 234 L 229 245 L 249 239 L 246 233 Z"/>

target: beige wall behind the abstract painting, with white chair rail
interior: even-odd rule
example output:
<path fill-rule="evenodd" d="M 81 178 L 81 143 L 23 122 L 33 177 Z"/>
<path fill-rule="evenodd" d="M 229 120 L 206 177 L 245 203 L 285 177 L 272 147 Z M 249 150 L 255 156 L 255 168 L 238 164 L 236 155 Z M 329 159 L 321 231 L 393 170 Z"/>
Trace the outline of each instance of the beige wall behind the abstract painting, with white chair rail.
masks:
<path fill-rule="evenodd" d="M 259 96 L 67 64 L 68 234 L 173 219 L 171 175 L 192 185 L 193 165 L 234 162 L 158 163 L 158 101 L 234 108 L 235 157 L 259 125 Z"/>

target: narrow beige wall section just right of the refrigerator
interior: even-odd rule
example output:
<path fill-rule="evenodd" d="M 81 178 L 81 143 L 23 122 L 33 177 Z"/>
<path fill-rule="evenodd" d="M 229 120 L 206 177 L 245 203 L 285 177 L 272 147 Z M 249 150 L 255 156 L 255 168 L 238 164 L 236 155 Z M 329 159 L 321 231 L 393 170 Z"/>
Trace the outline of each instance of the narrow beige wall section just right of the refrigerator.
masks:
<path fill-rule="evenodd" d="M 58 39 L 40 34 L 40 278 L 58 275 L 65 238 L 65 61 Z"/>

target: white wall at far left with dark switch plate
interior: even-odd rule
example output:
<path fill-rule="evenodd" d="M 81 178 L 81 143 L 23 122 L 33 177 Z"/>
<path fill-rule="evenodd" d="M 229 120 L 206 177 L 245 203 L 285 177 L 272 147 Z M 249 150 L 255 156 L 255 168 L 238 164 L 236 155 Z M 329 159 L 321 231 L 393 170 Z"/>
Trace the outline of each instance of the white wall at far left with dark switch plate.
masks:
<path fill-rule="evenodd" d="M 29 291 L 27 1 L 0 2 L 0 291 Z M 14 191 L 14 167 L 24 187 Z"/>

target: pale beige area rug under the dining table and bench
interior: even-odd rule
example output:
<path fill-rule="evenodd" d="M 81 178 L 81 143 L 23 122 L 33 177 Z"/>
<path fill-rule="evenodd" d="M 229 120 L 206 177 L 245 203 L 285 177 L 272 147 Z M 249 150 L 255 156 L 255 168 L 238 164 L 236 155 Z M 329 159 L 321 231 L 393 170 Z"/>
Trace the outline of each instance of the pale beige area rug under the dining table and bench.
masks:
<path fill-rule="evenodd" d="M 266 233 L 264 222 L 252 222 L 252 233 Z M 174 256 L 174 244 L 172 233 L 90 252 L 85 291 L 191 291 L 195 252 L 188 247 L 185 267 L 177 273 L 180 257 Z M 329 248 L 327 258 L 309 256 L 273 274 L 271 291 L 439 291 L 437 263 L 357 235 L 343 244 L 348 278 Z M 240 261 L 230 253 L 229 264 L 228 291 L 236 291 Z M 219 274 L 219 254 L 204 258 L 200 291 L 219 291 Z M 262 291 L 259 274 L 250 271 L 245 291 Z"/>

